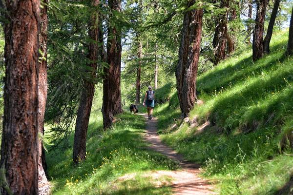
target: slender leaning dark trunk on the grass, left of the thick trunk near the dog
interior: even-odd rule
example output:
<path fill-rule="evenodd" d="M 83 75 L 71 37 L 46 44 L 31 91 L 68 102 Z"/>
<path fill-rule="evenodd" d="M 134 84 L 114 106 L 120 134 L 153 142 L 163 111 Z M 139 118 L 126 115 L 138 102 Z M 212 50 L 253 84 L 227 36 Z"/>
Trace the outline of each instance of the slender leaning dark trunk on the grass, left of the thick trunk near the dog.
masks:
<path fill-rule="evenodd" d="M 93 0 L 92 6 L 97 8 L 99 6 L 100 0 Z M 95 81 L 97 61 L 98 61 L 98 32 L 99 32 L 99 17 L 96 10 L 90 16 L 88 24 L 88 37 L 92 40 L 88 44 L 88 59 L 90 63 L 90 79 L 84 80 L 84 86 L 82 90 L 82 95 L 80 99 L 80 105 L 77 111 L 74 142 L 73 142 L 73 162 L 79 163 L 83 161 L 86 157 L 85 147 L 86 147 L 86 133 L 88 128 L 88 121 L 90 116 L 90 111 L 93 102 L 93 96 L 95 91 Z"/>

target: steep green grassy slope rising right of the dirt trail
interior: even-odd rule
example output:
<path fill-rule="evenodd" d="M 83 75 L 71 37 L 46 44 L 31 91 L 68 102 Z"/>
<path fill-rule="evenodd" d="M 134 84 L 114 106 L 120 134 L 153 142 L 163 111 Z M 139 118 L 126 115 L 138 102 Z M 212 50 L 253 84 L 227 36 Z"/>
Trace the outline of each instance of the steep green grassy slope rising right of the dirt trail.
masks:
<path fill-rule="evenodd" d="M 217 180 L 221 194 L 273 194 L 293 174 L 293 153 L 283 140 L 293 130 L 293 58 L 284 56 L 288 32 L 275 34 L 272 53 L 253 63 L 251 47 L 237 51 L 199 76 L 199 98 L 190 118 L 211 126 L 202 133 L 179 119 L 177 94 L 157 107 L 163 140 L 192 161 L 203 163 L 205 176 Z M 164 99 L 164 98 L 162 98 Z M 281 152 L 282 149 L 282 152 Z"/>

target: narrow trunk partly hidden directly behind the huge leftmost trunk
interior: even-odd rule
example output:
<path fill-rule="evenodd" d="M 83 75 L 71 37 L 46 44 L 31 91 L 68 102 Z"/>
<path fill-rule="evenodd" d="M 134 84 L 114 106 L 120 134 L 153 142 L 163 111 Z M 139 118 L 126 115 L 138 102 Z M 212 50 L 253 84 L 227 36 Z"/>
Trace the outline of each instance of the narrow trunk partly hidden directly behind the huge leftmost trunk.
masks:
<path fill-rule="evenodd" d="M 48 173 L 47 164 L 45 160 L 44 147 L 42 143 L 42 137 L 44 135 L 44 115 L 47 101 L 47 27 L 48 27 L 48 0 L 43 0 L 43 6 L 41 9 L 41 33 L 40 33 L 40 51 L 41 58 L 39 60 L 39 187 L 42 186 L 42 192 L 48 193 Z M 40 190 L 40 189 L 39 189 Z M 40 194 L 40 192 L 39 192 Z"/>

